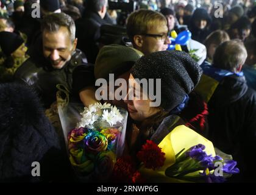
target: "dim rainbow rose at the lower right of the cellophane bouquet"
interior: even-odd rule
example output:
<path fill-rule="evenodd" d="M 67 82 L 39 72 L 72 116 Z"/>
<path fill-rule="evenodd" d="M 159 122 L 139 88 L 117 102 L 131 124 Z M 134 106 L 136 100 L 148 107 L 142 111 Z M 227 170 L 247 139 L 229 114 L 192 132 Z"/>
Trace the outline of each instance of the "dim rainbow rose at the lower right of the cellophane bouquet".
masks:
<path fill-rule="evenodd" d="M 114 168 L 115 154 L 112 151 L 100 152 L 95 159 L 96 177 L 104 181 L 110 177 Z"/>

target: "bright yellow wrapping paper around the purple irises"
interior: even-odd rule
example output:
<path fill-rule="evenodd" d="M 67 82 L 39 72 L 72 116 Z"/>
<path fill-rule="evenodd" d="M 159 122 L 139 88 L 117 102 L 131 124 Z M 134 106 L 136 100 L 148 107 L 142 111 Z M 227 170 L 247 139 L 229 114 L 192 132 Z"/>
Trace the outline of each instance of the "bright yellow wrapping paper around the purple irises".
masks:
<path fill-rule="evenodd" d="M 211 141 L 186 126 L 177 126 L 158 144 L 165 152 L 165 164 L 161 168 L 155 169 L 155 171 L 142 166 L 140 168 L 141 174 L 147 179 L 147 182 L 186 182 L 165 176 L 165 169 L 175 163 L 175 155 L 183 148 L 186 151 L 197 144 L 204 144 L 204 151 L 207 155 L 215 156 L 215 149 Z"/>

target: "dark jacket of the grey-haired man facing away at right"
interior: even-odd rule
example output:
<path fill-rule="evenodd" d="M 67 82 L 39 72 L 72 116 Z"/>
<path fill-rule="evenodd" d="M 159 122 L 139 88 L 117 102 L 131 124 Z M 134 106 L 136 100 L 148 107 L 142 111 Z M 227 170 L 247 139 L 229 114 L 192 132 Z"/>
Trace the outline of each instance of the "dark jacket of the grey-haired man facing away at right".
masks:
<path fill-rule="evenodd" d="M 221 151 L 232 154 L 240 174 L 231 180 L 255 182 L 256 92 L 245 78 L 227 76 L 221 80 L 208 102 L 209 140 Z"/>

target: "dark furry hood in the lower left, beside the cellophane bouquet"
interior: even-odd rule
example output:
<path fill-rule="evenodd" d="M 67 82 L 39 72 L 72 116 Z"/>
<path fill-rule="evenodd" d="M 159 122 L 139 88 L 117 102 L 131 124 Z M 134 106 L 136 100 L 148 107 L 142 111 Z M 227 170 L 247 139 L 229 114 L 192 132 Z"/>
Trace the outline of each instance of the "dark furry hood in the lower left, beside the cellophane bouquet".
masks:
<path fill-rule="evenodd" d="M 59 148 L 57 134 L 25 85 L 0 84 L 0 110 L 0 180 L 30 177 L 32 162 Z"/>

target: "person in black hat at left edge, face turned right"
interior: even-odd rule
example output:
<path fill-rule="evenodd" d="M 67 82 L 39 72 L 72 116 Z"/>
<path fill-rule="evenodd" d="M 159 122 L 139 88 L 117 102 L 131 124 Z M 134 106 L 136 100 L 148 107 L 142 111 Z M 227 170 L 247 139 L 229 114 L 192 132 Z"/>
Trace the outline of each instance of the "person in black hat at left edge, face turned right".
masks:
<path fill-rule="evenodd" d="M 0 82 L 9 82 L 16 69 L 27 59 L 27 47 L 20 35 L 5 31 L 0 32 L 0 47 L 3 54 L 0 60 Z"/>

